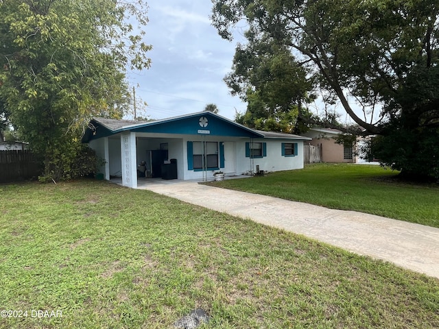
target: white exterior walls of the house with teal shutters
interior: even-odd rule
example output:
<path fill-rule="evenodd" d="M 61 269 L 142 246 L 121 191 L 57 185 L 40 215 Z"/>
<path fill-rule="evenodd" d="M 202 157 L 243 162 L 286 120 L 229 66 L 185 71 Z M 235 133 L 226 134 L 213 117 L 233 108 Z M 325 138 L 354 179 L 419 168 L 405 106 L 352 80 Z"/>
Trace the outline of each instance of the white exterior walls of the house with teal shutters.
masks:
<path fill-rule="evenodd" d="M 143 133 L 126 132 L 125 134 L 116 134 L 108 140 L 108 178 L 109 176 L 122 176 L 123 167 L 126 167 L 126 149 L 123 146 L 123 136 L 128 138 L 128 164 L 129 173 L 127 173 L 125 185 L 130 186 L 132 183 L 137 184 L 137 164 L 146 159 L 148 150 L 159 149 L 161 143 L 168 144 L 168 158 L 177 160 L 178 179 L 180 180 L 202 180 L 202 171 L 188 170 L 187 159 L 187 142 L 188 141 L 210 141 L 210 142 L 232 142 L 233 154 L 235 158 L 235 174 L 241 175 L 248 171 L 283 171 L 303 168 L 303 141 L 274 139 L 274 138 L 254 138 L 255 143 L 266 143 L 267 156 L 253 159 L 253 168 L 250 167 L 250 158 L 246 157 L 246 143 L 250 138 L 225 137 L 225 136 L 202 136 L 202 135 L 173 135 L 173 134 L 154 134 L 149 136 Z M 282 156 L 281 143 L 296 143 L 298 150 L 297 156 Z M 227 145 L 227 143 L 226 143 Z M 90 146 L 96 149 L 99 154 L 105 156 L 104 138 L 91 141 Z M 225 146 L 226 147 L 226 146 Z M 226 151 L 226 150 L 225 150 Z M 213 172 L 207 171 L 207 180 L 213 180 Z M 233 174 L 233 173 L 230 173 Z"/>

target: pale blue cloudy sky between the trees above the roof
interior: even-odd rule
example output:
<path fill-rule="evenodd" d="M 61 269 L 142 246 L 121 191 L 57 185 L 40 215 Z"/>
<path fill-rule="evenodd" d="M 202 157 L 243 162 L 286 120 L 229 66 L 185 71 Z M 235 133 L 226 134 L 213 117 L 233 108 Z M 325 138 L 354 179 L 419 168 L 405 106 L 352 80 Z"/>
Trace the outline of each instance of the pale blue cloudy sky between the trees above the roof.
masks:
<path fill-rule="evenodd" d="M 204 110 L 215 103 L 234 119 L 246 103 L 232 97 L 223 81 L 232 66 L 236 42 L 219 37 L 211 25 L 209 0 L 150 0 L 145 42 L 152 45 L 149 70 L 130 71 L 128 82 L 147 102 L 138 115 L 163 119 Z M 239 38 L 239 34 L 238 34 Z M 139 108 L 139 106 L 138 106 Z M 141 113 L 139 113 L 141 112 Z"/>

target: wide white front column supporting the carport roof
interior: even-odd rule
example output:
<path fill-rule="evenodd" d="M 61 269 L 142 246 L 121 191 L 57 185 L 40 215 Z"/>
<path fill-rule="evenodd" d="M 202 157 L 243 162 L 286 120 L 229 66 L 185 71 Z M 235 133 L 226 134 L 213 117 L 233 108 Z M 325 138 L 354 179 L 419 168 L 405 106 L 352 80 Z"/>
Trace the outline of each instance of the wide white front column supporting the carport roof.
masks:
<path fill-rule="evenodd" d="M 121 134 L 122 185 L 137 188 L 136 133 Z"/>

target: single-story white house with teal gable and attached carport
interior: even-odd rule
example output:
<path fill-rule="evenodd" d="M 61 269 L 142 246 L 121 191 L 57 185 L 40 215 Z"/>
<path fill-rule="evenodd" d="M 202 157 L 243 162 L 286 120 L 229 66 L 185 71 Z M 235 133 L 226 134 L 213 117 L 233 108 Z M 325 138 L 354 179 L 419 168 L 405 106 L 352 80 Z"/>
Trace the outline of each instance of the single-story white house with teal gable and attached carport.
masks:
<path fill-rule="evenodd" d="M 155 121 L 93 118 L 82 142 L 106 160 L 102 173 L 137 187 L 137 166 L 146 177 L 209 180 L 226 175 L 303 168 L 303 143 L 311 138 L 252 130 L 204 111 Z"/>

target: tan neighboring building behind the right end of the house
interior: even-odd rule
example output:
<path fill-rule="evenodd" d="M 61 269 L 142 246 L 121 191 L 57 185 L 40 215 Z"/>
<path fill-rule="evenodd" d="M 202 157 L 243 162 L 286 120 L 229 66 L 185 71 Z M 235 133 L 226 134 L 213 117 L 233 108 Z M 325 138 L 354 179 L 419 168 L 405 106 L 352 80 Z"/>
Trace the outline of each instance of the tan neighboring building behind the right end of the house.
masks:
<path fill-rule="evenodd" d="M 340 134 L 343 134 L 340 130 L 313 127 L 303 135 L 312 138 L 309 145 L 320 149 L 322 162 L 357 162 L 353 145 L 335 143 L 335 138 Z"/>

